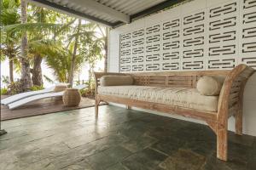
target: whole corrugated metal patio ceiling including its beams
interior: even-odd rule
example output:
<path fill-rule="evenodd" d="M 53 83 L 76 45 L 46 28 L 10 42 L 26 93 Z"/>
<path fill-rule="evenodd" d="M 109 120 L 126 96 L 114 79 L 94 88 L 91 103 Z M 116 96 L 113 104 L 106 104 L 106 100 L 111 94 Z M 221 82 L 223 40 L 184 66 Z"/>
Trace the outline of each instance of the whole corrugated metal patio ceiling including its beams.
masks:
<path fill-rule="evenodd" d="M 30 0 L 107 26 L 129 23 L 132 16 L 143 11 L 150 13 L 151 8 L 158 6 L 157 10 L 160 10 L 180 1 L 182 0 Z"/>

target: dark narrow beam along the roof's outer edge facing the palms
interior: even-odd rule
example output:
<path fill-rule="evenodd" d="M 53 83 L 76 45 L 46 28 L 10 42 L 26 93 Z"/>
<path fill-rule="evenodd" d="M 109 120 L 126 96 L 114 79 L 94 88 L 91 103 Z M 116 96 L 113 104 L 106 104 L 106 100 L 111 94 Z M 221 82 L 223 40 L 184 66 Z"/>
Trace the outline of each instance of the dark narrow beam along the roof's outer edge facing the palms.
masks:
<path fill-rule="evenodd" d="M 61 5 L 56 4 L 56 3 L 51 3 L 51 2 L 45 1 L 45 0 L 26 0 L 26 1 L 30 2 L 30 3 L 34 3 L 35 5 L 38 5 L 39 7 L 54 9 L 54 10 L 56 10 L 56 11 L 62 13 L 62 14 L 67 14 L 67 15 L 77 17 L 77 18 L 80 18 L 80 19 L 87 19 L 89 21 L 94 21 L 96 23 L 102 24 L 103 26 L 113 27 L 113 23 L 110 23 L 106 20 L 98 19 L 98 18 L 96 18 L 94 16 L 91 16 L 89 14 L 80 13 L 76 10 L 61 6 Z"/>

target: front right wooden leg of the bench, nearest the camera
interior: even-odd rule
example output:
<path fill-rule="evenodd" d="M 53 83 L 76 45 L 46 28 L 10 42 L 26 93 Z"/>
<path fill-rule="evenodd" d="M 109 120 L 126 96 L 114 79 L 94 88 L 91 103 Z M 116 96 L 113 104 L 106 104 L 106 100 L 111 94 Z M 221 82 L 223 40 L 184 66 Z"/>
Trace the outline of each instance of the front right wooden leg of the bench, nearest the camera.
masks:
<path fill-rule="evenodd" d="M 218 124 L 217 127 L 217 157 L 220 160 L 228 160 L 228 130 L 227 124 Z"/>

